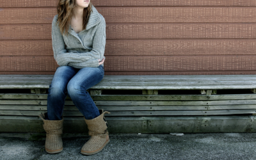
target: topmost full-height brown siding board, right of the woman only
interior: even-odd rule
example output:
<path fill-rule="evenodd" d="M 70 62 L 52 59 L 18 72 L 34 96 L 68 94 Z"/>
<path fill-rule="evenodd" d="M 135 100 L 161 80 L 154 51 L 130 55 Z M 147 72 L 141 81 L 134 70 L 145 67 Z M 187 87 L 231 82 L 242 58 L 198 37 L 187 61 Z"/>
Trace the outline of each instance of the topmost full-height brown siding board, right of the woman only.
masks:
<path fill-rule="evenodd" d="M 98 7 L 106 22 L 256 22 L 256 7 Z M 250 15 L 250 16 L 249 16 Z"/>

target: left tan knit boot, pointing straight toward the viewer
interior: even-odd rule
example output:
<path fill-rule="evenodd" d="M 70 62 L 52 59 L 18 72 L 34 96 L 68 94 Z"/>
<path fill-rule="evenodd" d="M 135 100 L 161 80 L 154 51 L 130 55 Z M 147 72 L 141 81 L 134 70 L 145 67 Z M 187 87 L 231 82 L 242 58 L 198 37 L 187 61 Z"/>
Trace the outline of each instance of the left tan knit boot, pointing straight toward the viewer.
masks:
<path fill-rule="evenodd" d="M 44 121 L 44 130 L 46 132 L 45 151 L 49 154 L 56 154 L 63 150 L 61 134 L 63 131 L 62 120 L 45 120 L 45 113 L 39 115 Z"/>

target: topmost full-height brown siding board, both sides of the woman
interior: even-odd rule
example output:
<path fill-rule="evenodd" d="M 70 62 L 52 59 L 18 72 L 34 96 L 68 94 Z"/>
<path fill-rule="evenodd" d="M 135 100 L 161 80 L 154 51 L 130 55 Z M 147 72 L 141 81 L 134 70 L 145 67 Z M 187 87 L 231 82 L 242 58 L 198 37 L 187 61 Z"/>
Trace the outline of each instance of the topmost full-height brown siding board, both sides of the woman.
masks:
<path fill-rule="evenodd" d="M 256 22 L 256 7 L 97 7 L 106 22 Z M 1 24 L 51 23 L 56 8 L 3 8 Z M 250 16 L 248 16 L 250 15 Z"/>

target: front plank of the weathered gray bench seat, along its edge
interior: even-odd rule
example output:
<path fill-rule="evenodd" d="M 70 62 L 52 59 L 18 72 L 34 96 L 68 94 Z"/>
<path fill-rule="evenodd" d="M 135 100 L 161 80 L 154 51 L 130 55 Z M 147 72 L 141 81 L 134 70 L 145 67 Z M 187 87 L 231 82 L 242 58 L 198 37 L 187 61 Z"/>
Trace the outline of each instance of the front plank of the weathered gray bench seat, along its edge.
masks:
<path fill-rule="evenodd" d="M 51 81 L 17 81 L 17 82 L 0 82 L 0 88 L 49 88 Z M 193 82 L 141 82 L 141 83 L 125 83 L 125 82 L 106 82 L 101 81 L 93 90 L 225 90 L 225 89 L 250 89 L 256 88 L 254 81 L 193 81 Z"/>

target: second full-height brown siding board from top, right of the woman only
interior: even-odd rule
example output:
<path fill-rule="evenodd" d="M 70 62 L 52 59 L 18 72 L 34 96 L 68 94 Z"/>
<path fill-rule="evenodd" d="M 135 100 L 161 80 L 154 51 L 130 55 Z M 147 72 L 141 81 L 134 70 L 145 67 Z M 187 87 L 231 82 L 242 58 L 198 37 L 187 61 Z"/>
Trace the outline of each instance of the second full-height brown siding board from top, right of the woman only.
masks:
<path fill-rule="evenodd" d="M 109 23 L 108 39 L 256 38 L 256 24 Z"/>

